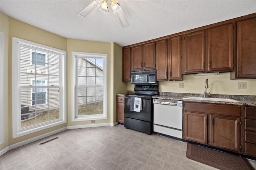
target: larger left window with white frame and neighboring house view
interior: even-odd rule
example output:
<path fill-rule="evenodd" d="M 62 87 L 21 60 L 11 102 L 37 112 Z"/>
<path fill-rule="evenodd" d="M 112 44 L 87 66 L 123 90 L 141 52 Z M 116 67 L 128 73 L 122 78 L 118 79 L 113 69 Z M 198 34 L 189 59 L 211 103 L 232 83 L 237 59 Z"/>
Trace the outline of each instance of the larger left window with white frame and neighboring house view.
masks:
<path fill-rule="evenodd" d="M 12 43 L 13 138 L 66 123 L 66 51 Z"/>

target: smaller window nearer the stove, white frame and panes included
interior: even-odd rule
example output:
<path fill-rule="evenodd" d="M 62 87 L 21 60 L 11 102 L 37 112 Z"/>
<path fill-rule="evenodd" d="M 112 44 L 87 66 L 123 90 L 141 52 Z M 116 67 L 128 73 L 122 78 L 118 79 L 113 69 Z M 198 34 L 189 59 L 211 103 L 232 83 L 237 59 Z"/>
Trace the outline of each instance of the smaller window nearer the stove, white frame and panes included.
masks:
<path fill-rule="evenodd" d="M 72 121 L 107 119 L 107 55 L 72 52 Z"/>

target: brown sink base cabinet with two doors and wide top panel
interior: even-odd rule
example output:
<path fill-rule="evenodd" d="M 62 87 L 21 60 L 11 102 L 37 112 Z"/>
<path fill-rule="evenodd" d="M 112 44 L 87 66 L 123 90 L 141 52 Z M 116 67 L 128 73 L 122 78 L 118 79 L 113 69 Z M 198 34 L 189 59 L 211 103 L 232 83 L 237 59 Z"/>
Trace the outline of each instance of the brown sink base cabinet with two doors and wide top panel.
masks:
<path fill-rule="evenodd" d="M 241 106 L 184 102 L 183 139 L 240 152 L 241 112 Z"/>

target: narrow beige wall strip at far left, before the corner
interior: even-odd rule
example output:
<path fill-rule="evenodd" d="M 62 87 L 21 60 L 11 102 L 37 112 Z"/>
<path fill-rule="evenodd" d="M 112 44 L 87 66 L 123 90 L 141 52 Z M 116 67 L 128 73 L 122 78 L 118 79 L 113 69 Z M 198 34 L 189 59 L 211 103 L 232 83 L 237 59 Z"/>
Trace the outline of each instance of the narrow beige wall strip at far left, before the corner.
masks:
<path fill-rule="evenodd" d="M 8 16 L 6 16 L 4 13 L 0 12 L 0 30 L 4 33 L 4 61 L 3 61 L 3 70 L 4 74 L 3 80 L 4 80 L 4 101 L 3 101 L 3 106 L 4 106 L 4 117 L 3 117 L 3 122 L 4 122 L 4 143 L 0 145 L 0 150 L 4 149 L 5 147 L 8 147 L 9 142 L 8 142 L 8 131 L 5 129 L 8 129 L 8 124 L 9 124 L 9 117 L 8 117 L 8 35 L 9 35 L 9 20 Z"/>

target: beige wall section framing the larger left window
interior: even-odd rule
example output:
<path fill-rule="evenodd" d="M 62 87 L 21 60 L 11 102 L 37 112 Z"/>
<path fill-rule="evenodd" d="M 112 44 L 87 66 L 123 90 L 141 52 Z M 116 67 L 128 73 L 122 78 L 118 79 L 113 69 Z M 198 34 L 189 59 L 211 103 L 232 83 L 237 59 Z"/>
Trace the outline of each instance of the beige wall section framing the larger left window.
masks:
<path fill-rule="evenodd" d="M 37 27 L 34 27 L 32 25 L 29 25 L 27 23 L 24 23 L 19 20 L 15 20 L 14 18 L 9 17 L 9 51 L 8 51 L 8 136 L 9 136 L 9 145 L 12 145 L 14 143 L 18 143 L 27 139 L 30 139 L 32 137 L 36 137 L 38 135 L 42 135 L 44 133 L 48 133 L 51 131 L 54 131 L 56 129 L 60 129 L 62 127 L 66 127 L 66 123 L 62 125 L 58 125 L 55 127 L 51 127 L 49 129 L 45 129 L 43 131 L 38 131 L 36 133 L 31 133 L 29 135 L 25 135 L 22 137 L 18 137 L 15 139 L 12 139 L 12 37 L 17 37 L 21 39 L 25 39 L 28 41 L 32 41 L 35 43 L 39 43 L 42 45 L 47 45 L 50 47 L 54 47 L 57 49 L 61 49 L 66 51 L 67 48 L 67 39 L 64 37 L 61 37 L 59 35 L 56 35 L 54 33 L 50 33 L 48 31 L 45 31 L 43 29 L 39 29 Z M 2 149 L 2 148 L 1 148 Z"/>

